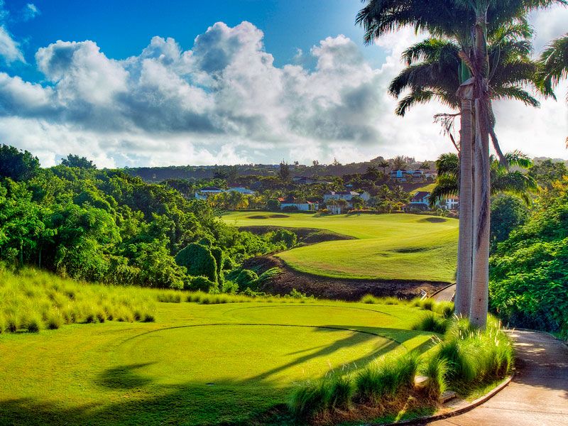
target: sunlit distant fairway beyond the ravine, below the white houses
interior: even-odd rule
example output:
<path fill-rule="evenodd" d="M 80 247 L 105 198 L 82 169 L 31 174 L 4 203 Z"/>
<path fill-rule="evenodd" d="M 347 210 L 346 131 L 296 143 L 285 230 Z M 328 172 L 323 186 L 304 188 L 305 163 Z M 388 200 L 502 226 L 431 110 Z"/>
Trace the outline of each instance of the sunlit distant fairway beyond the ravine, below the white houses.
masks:
<path fill-rule="evenodd" d="M 415 214 L 320 217 L 272 212 L 235 212 L 222 219 L 234 226 L 329 229 L 356 238 L 327 241 L 278 254 L 300 272 L 364 280 L 454 280 L 457 219 Z"/>

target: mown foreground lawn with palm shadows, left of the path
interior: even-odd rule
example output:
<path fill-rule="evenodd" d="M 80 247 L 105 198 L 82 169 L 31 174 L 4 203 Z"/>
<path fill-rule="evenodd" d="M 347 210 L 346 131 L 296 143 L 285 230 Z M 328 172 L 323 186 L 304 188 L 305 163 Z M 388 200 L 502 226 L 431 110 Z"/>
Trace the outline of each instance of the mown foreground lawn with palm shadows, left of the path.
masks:
<path fill-rule="evenodd" d="M 156 303 L 155 315 L 0 334 L 0 425 L 253 424 L 294 383 L 424 351 L 432 334 L 410 331 L 421 311 L 400 305 Z"/>

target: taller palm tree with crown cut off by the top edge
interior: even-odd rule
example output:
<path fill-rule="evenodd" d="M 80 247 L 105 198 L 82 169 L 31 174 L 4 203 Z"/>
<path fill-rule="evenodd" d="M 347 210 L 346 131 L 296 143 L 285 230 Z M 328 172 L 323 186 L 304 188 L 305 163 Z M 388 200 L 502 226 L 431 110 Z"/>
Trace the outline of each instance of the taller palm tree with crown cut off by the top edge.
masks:
<path fill-rule="evenodd" d="M 475 244 L 471 249 L 471 258 L 469 255 L 461 258 L 458 271 L 462 275 L 460 271 L 471 268 L 471 292 L 464 290 L 465 294 L 471 295 L 469 316 L 474 324 L 485 327 L 488 302 L 490 135 L 496 152 L 502 163 L 505 163 L 493 131 L 495 119 L 488 87 L 493 69 L 489 61 L 488 34 L 492 28 L 499 28 L 506 23 L 523 23 L 528 11 L 552 4 L 568 4 L 568 0 L 364 1 L 366 5 L 359 11 L 356 21 L 365 28 L 366 43 L 373 43 L 381 35 L 410 26 L 415 31 L 428 31 L 434 37 L 456 40 L 461 48 L 461 87 L 458 97 L 461 99 L 460 192 L 463 208 L 460 209 L 459 253 L 469 250 L 470 239 L 474 239 Z M 475 175 L 472 171 L 474 154 Z M 473 209 L 469 207 L 472 201 Z M 474 222 L 472 226 L 471 218 Z M 472 229 L 475 235 L 471 234 Z M 459 287 L 457 292 L 461 293 Z"/>

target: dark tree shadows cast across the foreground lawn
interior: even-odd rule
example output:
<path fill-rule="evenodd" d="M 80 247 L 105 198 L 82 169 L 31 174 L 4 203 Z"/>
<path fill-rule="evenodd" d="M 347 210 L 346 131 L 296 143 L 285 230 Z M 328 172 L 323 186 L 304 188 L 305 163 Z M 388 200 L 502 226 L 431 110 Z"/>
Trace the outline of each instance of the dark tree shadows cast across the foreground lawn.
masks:
<path fill-rule="evenodd" d="M 97 385 L 108 390 L 106 402 L 99 398 L 97 403 L 70 408 L 65 401 L 58 400 L 4 400 L 0 401 L 0 425 L 293 425 L 293 419 L 284 404 L 291 386 L 283 387 L 281 383 L 271 380 L 271 376 L 314 356 L 332 354 L 366 339 L 383 337 L 376 329 L 373 333 L 339 325 L 315 329 L 317 332 L 348 329 L 352 334 L 329 345 L 316 346 L 313 354 L 302 354 L 292 363 L 242 381 L 217 378 L 212 385 L 190 381 L 161 385 L 140 373 L 141 368 L 151 363 L 114 366 L 95 379 Z M 391 335 L 396 341 L 385 342 L 371 354 L 361 356 L 354 361 L 358 368 L 420 333 L 381 329 L 381 334 L 384 337 Z M 429 344 L 425 342 L 417 350 L 427 349 Z"/>

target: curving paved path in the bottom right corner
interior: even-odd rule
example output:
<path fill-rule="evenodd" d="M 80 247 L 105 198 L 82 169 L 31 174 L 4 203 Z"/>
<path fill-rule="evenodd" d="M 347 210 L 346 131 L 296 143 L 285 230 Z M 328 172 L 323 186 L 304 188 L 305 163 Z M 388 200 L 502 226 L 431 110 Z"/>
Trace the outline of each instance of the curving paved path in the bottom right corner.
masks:
<path fill-rule="evenodd" d="M 517 373 L 478 408 L 435 426 L 568 426 L 568 348 L 549 334 L 512 331 Z"/>

